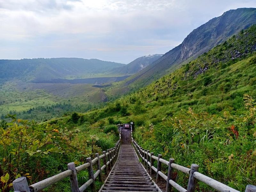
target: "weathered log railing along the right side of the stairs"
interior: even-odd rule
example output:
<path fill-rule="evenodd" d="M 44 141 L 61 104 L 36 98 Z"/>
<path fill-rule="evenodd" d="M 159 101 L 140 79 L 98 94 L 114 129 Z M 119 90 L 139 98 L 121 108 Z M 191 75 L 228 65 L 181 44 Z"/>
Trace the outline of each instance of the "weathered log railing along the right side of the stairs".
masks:
<path fill-rule="evenodd" d="M 141 158 L 144 167 L 146 169 L 150 169 L 150 175 L 156 172 L 156 181 L 158 181 L 160 177 L 166 181 L 166 192 L 170 192 L 172 187 L 180 192 L 194 192 L 196 189 L 197 180 L 202 181 L 203 183 L 220 192 L 239 192 L 234 188 L 228 187 L 227 185 L 198 172 L 199 166 L 197 164 L 192 164 L 191 168 L 189 169 L 187 167 L 175 164 L 173 158 L 170 158 L 169 161 L 166 161 L 162 159 L 161 154 L 154 156 L 154 153 L 150 153 L 149 150 L 145 150 L 140 147 L 137 142 L 133 140 L 133 138 L 132 143 L 134 145 L 135 151 Z M 154 161 L 157 161 L 157 167 L 154 166 Z M 162 165 L 168 166 L 167 176 L 161 171 Z M 189 175 L 187 189 L 181 187 L 178 183 L 172 180 L 173 169 L 179 170 Z M 245 192 L 256 192 L 256 186 L 247 185 Z"/>

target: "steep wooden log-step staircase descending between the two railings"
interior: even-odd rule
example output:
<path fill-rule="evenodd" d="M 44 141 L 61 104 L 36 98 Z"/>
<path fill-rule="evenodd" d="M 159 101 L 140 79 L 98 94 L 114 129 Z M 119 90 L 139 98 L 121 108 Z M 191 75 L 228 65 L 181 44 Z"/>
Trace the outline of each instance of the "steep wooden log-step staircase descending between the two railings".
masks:
<path fill-rule="evenodd" d="M 121 145 L 118 159 L 101 192 L 159 191 L 131 144 Z"/>

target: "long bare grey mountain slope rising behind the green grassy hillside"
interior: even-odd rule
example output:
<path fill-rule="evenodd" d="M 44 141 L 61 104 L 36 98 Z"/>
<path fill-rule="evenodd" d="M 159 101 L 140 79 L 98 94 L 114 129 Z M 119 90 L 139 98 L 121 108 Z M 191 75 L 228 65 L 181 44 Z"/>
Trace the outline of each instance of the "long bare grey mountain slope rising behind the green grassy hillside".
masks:
<path fill-rule="evenodd" d="M 186 60 L 196 58 L 255 23 L 255 8 L 239 8 L 227 11 L 220 17 L 213 18 L 193 30 L 182 44 L 165 53 L 152 65 L 127 78 L 122 84 L 118 84 L 114 90 L 122 89 L 127 92 L 145 86 L 173 71 Z"/>

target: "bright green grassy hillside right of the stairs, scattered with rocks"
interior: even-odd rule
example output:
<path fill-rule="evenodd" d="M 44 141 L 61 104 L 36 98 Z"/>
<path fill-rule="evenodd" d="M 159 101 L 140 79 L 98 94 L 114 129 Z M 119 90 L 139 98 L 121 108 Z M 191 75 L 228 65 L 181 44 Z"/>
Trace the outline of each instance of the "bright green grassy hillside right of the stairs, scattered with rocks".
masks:
<path fill-rule="evenodd" d="M 166 159 L 172 156 L 183 166 L 199 164 L 200 172 L 244 190 L 256 182 L 256 106 L 244 96 L 256 97 L 255 36 L 252 26 L 84 118 L 90 123 L 106 122 L 107 117 L 134 121 L 142 147 Z M 187 179 L 179 174 L 177 182 L 185 187 Z"/>

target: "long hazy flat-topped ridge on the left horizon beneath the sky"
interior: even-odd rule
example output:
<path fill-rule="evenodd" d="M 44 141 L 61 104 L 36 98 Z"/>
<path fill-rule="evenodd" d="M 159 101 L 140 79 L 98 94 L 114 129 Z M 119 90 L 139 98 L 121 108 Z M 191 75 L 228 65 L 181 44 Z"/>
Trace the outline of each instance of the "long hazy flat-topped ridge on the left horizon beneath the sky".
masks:
<path fill-rule="evenodd" d="M 12 79 L 40 83 L 59 78 L 88 78 L 121 66 L 125 65 L 80 58 L 0 60 L 0 83 Z"/>

